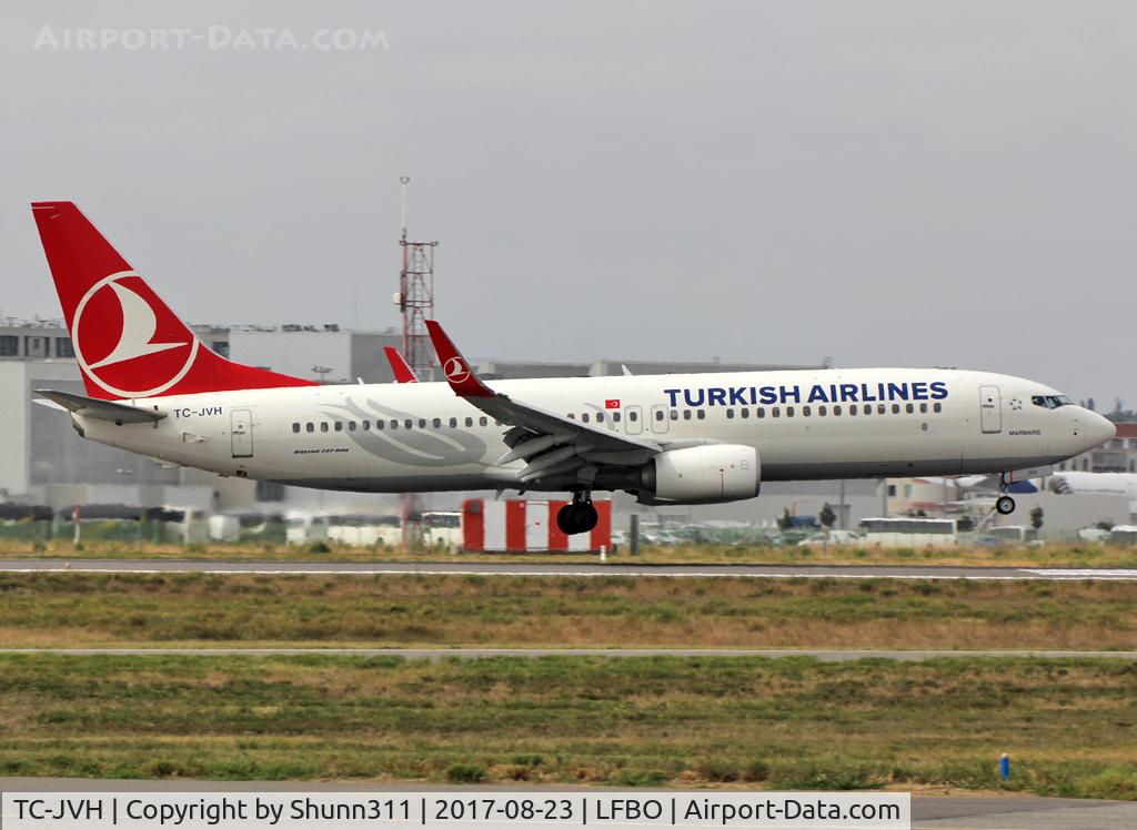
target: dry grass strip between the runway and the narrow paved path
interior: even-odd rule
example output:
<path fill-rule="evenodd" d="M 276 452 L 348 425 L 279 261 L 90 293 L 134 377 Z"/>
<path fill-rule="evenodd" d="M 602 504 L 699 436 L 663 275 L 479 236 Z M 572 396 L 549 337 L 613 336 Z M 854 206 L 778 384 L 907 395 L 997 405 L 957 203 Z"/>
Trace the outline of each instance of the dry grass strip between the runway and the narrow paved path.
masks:
<path fill-rule="evenodd" d="M 1135 582 L 0 575 L 0 646 L 1137 649 Z"/>

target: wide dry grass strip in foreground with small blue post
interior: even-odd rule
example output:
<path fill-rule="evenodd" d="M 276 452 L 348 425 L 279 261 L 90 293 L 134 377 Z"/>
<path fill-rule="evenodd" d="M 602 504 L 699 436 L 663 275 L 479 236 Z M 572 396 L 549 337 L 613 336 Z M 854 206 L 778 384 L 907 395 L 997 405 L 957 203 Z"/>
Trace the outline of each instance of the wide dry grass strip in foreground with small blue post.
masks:
<path fill-rule="evenodd" d="M 1137 666 L 0 656 L 0 773 L 1137 796 Z"/>

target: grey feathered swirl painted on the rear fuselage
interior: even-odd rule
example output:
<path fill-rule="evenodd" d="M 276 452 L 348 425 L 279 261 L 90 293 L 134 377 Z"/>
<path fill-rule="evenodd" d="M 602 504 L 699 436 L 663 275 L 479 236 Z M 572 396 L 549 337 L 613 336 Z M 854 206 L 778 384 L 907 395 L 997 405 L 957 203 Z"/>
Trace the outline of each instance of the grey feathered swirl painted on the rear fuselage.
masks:
<path fill-rule="evenodd" d="M 367 398 L 366 408 L 348 398 L 347 404 L 342 406 L 327 405 L 324 409 L 329 415 L 347 415 L 360 421 L 382 417 L 417 422 L 421 418 L 421 415 L 392 409 L 372 398 Z M 397 433 L 393 430 L 346 430 L 342 434 L 350 438 L 365 453 L 408 466 L 442 467 L 462 464 L 491 466 L 483 460 L 485 442 L 473 433 L 458 429 L 448 428 L 445 435 L 428 430 L 401 428 Z"/>

